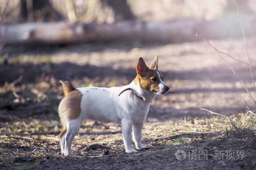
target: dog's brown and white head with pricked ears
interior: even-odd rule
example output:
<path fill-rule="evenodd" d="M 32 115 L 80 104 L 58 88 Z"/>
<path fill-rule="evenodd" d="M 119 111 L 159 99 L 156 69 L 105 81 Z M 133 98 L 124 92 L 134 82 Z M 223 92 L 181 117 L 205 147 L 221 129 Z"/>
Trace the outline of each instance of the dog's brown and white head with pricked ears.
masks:
<path fill-rule="evenodd" d="M 144 90 L 152 91 L 157 95 L 163 95 L 169 90 L 163 82 L 163 75 L 158 71 L 158 56 L 155 56 L 149 67 L 146 66 L 143 58 L 139 59 L 135 83 L 140 83 Z"/>

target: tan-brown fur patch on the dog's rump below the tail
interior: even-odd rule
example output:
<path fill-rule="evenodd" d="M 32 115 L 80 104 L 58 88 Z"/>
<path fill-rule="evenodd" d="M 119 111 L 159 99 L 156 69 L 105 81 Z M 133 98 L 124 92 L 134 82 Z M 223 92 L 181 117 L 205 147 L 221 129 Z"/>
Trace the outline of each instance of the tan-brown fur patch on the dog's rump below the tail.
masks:
<path fill-rule="evenodd" d="M 79 90 L 73 90 L 61 100 L 59 105 L 61 124 L 64 125 L 65 122 L 79 117 L 81 113 L 82 96 Z"/>

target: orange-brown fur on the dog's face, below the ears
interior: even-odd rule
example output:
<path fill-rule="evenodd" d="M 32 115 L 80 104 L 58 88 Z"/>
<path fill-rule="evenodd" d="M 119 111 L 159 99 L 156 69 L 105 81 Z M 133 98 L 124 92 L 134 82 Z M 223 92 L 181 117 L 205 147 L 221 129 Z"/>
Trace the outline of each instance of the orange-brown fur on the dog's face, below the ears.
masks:
<path fill-rule="evenodd" d="M 141 76 L 139 74 L 137 74 L 134 83 L 135 85 L 137 85 L 138 83 L 140 84 L 140 86 L 144 89 L 144 90 L 148 90 L 148 91 L 159 91 L 159 83 L 160 83 L 160 79 L 159 76 L 157 74 L 158 70 L 153 69 L 153 68 L 148 68 L 145 76 Z M 160 78 L 163 79 L 163 76 L 161 73 L 160 74 Z"/>

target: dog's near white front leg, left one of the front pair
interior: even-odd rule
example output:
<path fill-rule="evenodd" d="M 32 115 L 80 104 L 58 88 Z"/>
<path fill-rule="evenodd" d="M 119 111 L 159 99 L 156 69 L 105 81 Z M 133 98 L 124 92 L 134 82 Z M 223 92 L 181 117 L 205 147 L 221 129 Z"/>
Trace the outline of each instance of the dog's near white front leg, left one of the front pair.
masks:
<path fill-rule="evenodd" d="M 122 126 L 125 152 L 128 154 L 137 153 L 138 151 L 132 148 L 132 122 L 129 120 L 122 120 L 121 126 Z"/>

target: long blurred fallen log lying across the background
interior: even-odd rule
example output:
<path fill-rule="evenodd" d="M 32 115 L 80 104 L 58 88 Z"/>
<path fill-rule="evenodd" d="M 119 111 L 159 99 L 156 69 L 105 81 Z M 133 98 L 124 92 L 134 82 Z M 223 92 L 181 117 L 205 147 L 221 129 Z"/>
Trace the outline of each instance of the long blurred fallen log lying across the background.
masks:
<path fill-rule="evenodd" d="M 246 16 L 246 36 L 255 35 L 255 16 Z M 195 36 L 216 39 L 242 36 L 237 17 L 216 20 L 121 21 L 113 24 L 26 23 L 0 26 L 5 44 L 71 44 L 91 42 L 180 43 L 200 40 Z"/>

